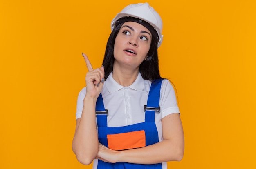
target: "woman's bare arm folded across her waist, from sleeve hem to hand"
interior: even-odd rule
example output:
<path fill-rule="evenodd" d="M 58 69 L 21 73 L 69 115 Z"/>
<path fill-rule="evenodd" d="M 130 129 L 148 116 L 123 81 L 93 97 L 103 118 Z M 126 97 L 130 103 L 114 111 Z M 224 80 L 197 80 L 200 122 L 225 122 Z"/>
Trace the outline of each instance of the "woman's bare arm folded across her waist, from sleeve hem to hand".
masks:
<path fill-rule="evenodd" d="M 184 134 L 180 114 L 173 113 L 162 119 L 162 142 L 138 149 L 114 151 L 99 145 L 97 158 L 106 162 L 130 162 L 155 164 L 167 161 L 180 161 L 184 153 Z"/>

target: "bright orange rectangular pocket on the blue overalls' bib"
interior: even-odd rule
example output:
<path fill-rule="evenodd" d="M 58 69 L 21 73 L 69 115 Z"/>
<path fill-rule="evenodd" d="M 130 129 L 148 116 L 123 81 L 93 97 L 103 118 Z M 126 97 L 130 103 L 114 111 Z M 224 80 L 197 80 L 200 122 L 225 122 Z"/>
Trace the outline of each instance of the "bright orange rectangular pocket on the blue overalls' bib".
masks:
<path fill-rule="evenodd" d="M 112 150 L 134 149 L 146 146 L 145 131 L 108 134 L 108 148 Z"/>

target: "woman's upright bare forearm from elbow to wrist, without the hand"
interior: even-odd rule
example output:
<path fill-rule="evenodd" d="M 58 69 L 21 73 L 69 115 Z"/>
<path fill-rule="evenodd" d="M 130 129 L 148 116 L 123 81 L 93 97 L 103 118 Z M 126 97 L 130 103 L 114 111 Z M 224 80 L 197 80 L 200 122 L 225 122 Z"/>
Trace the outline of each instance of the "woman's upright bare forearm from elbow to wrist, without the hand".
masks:
<path fill-rule="evenodd" d="M 96 100 L 84 99 L 82 116 L 77 124 L 72 148 L 79 162 L 88 165 L 98 152 L 98 136 L 95 123 Z"/>

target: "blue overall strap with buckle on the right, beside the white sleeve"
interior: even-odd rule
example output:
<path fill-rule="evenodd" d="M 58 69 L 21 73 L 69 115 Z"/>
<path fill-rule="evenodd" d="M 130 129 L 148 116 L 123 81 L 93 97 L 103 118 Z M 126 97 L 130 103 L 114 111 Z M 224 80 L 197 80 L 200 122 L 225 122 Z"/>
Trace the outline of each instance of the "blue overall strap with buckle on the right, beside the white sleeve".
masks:
<path fill-rule="evenodd" d="M 157 79 L 151 83 L 148 93 L 148 102 L 147 105 L 144 106 L 144 111 L 146 112 L 145 122 L 155 121 L 156 111 L 160 112 L 159 100 L 162 81 L 163 79 Z"/>

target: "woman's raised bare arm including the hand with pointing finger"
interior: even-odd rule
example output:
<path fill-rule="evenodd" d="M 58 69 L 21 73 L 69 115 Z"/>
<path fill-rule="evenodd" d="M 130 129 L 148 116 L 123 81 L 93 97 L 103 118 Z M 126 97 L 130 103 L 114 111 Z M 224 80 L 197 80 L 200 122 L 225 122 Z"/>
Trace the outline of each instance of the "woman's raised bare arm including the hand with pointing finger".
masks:
<path fill-rule="evenodd" d="M 84 56 L 84 58 L 89 72 L 85 78 L 86 94 L 83 100 L 82 116 L 76 120 L 72 149 L 79 162 L 89 165 L 95 159 L 98 152 L 95 105 L 103 88 L 103 81 L 101 79 L 104 78 L 104 68 L 92 69 L 87 56 Z"/>

